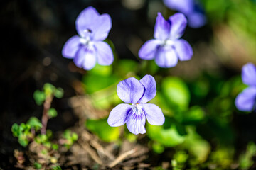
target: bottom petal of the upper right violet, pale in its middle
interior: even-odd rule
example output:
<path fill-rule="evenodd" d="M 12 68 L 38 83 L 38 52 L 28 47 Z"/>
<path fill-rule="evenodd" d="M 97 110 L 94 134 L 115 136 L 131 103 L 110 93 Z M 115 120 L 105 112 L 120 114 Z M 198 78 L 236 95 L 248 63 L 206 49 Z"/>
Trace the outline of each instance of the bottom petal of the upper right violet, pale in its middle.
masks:
<path fill-rule="evenodd" d="M 156 52 L 155 61 L 159 67 L 174 67 L 178 63 L 178 56 L 172 47 L 160 47 Z"/>

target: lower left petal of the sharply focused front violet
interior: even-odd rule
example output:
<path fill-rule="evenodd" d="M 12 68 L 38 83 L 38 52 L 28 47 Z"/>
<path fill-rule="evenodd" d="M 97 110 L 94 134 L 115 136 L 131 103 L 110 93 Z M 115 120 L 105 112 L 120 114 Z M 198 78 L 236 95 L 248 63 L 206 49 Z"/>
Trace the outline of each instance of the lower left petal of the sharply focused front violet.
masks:
<path fill-rule="evenodd" d="M 119 104 L 110 112 L 109 117 L 107 118 L 107 123 L 112 126 L 120 126 L 126 123 L 127 115 L 131 111 L 132 106 L 129 104 Z"/>

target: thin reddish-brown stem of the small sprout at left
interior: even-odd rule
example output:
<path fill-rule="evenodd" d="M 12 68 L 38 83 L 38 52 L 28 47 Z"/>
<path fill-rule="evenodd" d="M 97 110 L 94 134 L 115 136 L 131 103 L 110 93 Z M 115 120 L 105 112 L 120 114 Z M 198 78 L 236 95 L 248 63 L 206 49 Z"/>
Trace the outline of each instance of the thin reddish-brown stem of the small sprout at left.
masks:
<path fill-rule="evenodd" d="M 41 134 L 46 134 L 46 127 L 48 122 L 48 111 L 50 109 L 51 102 L 53 101 L 53 96 L 47 96 L 45 102 L 43 103 L 43 115 L 42 115 L 42 128 Z"/>

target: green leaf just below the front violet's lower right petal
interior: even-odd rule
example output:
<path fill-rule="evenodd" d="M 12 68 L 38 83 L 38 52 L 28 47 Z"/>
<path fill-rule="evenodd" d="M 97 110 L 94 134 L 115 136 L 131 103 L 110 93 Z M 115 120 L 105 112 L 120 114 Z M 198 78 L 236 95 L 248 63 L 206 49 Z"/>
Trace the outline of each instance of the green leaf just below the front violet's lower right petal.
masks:
<path fill-rule="evenodd" d="M 179 145 L 186 138 L 186 132 L 183 126 L 167 116 L 164 125 L 156 126 L 148 123 L 147 135 L 151 140 L 159 142 L 166 147 Z"/>

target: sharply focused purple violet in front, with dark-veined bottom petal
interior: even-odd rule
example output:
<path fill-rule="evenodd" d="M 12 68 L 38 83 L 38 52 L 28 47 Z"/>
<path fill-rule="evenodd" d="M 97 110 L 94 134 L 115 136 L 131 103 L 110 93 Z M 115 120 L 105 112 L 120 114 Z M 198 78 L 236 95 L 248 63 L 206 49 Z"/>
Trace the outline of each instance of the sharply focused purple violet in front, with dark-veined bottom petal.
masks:
<path fill-rule="evenodd" d="M 146 119 L 151 125 L 163 125 L 164 115 L 161 108 L 154 104 L 146 104 L 156 96 L 156 81 L 150 75 L 140 81 L 134 77 L 117 84 L 117 95 L 125 103 L 119 104 L 110 112 L 107 123 L 112 126 L 127 124 L 127 128 L 135 135 L 145 133 Z"/>

